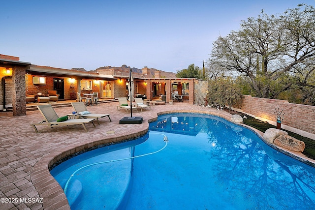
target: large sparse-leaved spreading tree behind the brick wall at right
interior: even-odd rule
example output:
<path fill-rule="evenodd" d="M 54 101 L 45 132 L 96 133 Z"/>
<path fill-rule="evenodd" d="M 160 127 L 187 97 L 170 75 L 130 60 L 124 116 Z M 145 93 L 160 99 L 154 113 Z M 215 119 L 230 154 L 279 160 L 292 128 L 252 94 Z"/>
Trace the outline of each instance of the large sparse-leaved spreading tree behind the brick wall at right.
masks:
<path fill-rule="evenodd" d="M 283 15 L 242 21 L 241 29 L 214 42 L 211 62 L 250 78 L 255 96 L 276 98 L 294 84 L 315 88 L 315 10 L 305 4 Z"/>

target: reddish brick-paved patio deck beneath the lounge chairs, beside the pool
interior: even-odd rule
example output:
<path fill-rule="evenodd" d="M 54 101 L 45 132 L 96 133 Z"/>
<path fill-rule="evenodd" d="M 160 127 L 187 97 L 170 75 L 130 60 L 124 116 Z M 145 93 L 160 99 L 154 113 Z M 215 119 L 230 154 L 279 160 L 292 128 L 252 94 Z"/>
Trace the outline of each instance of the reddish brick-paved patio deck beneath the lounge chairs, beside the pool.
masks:
<path fill-rule="evenodd" d="M 69 205 L 58 182 L 50 175 L 49 167 L 63 157 L 100 144 L 124 141 L 148 131 L 148 120 L 164 112 L 200 112 L 215 114 L 225 119 L 231 115 L 225 111 L 189 105 L 188 102 L 174 105 L 153 106 L 151 110 L 135 112 L 143 117 L 142 124 L 119 124 L 123 117 L 130 116 L 125 110 L 117 110 L 118 102 L 102 103 L 87 107 L 92 113 L 111 114 L 111 122 L 100 120 L 100 125 L 63 126 L 45 128 L 35 133 L 30 125 L 42 120 L 39 111 L 29 111 L 26 116 L 13 116 L 12 112 L 0 113 L 0 209 L 1 210 L 69 210 Z M 56 108 L 61 117 L 72 113 L 72 107 Z M 42 129 L 45 126 L 40 126 Z"/>

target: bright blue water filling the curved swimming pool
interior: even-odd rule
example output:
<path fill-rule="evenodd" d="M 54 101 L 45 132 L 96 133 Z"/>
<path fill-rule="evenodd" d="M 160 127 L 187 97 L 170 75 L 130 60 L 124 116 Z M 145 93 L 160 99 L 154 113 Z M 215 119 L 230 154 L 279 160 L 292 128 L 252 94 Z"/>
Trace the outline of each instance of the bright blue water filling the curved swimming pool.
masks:
<path fill-rule="evenodd" d="M 315 168 L 209 115 L 159 116 L 147 135 L 75 156 L 51 174 L 73 210 L 315 208 Z"/>

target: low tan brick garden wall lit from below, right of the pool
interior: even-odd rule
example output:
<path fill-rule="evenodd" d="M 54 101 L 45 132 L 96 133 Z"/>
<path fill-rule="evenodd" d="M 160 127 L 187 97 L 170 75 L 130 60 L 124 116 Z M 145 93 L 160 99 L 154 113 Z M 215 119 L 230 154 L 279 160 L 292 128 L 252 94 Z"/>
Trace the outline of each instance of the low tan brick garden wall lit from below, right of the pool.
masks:
<path fill-rule="evenodd" d="M 256 98 L 243 95 L 241 103 L 237 106 L 244 113 L 258 116 L 259 118 L 276 121 L 273 113 L 275 109 L 283 110 L 283 125 L 287 125 L 311 134 L 315 134 L 315 106 L 292 104 L 286 100 Z"/>

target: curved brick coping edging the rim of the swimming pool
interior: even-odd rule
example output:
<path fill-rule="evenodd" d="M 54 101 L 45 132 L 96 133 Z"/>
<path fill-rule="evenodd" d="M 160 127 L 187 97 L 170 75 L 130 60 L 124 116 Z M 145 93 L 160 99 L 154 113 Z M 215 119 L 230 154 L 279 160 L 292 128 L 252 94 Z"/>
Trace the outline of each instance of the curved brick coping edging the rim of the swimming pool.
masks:
<path fill-rule="evenodd" d="M 137 138 L 139 136 L 145 135 L 149 130 L 149 123 L 152 121 L 156 121 L 158 119 L 159 115 L 163 114 L 171 114 L 171 113 L 194 113 L 194 114 L 207 114 L 207 115 L 213 115 L 221 117 L 225 120 L 231 121 L 232 115 L 224 112 L 224 113 L 218 113 L 214 111 L 205 111 L 205 110 L 169 110 L 169 111 L 162 111 L 157 112 L 156 117 L 150 118 L 147 120 L 146 126 L 144 126 L 143 129 L 138 130 L 137 132 L 126 134 L 122 136 L 115 136 L 115 135 L 109 135 L 107 138 L 99 139 L 99 140 L 90 140 L 88 142 L 84 142 L 82 144 L 78 144 L 77 146 L 73 148 L 65 148 L 60 151 L 55 151 L 50 153 L 47 156 L 44 156 L 38 162 L 32 167 L 30 177 L 31 181 L 38 191 L 39 197 L 45 199 L 45 202 L 43 203 L 43 209 L 45 210 L 56 210 L 56 209 L 63 209 L 63 210 L 70 210 L 70 206 L 68 204 L 68 200 L 63 192 L 62 187 L 60 184 L 54 179 L 54 177 L 50 174 L 49 169 L 58 161 L 63 160 L 64 158 L 67 158 L 71 155 L 78 154 L 82 151 L 89 150 L 91 148 L 95 148 L 97 146 L 101 145 L 110 145 L 110 144 L 116 144 L 124 141 L 129 141 L 134 138 Z M 268 142 L 266 142 L 263 139 L 263 132 L 245 125 L 243 123 L 236 123 L 241 126 L 244 126 L 246 128 L 249 128 L 253 132 L 255 132 L 264 143 L 266 143 L 268 146 L 279 150 L 283 152 L 284 154 L 291 156 L 299 161 L 302 161 L 306 164 L 312 165 L 315 167 L 315 161 L 307 158 L 305 155 L 303 155 L 300 152 L 293 152 L 286 150 L 284 148 L 272 145 Z M 72 146 L 71 146 L 72 147 Z"/>

